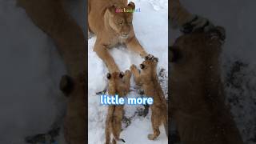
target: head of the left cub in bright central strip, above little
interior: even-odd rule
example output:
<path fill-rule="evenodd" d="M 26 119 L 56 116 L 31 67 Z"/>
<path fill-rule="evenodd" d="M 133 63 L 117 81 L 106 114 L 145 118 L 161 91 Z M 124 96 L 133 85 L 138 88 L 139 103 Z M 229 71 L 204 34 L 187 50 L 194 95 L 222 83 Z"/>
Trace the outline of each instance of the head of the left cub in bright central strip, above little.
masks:
<path fill-rule="evenodd" d="M 123 82 L 124 74 L 122 72 L 114 72 L 112 74 L 106 74 L 106 78 L 109 80 L 109 94 L 122 94 L 125 89 L 125 84 Z"/>

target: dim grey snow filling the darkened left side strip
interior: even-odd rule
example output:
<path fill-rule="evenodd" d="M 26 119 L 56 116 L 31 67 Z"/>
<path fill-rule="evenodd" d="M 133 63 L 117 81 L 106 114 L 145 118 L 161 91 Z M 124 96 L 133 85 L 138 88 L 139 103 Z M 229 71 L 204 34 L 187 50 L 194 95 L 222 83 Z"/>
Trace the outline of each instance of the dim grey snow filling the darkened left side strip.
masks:
<path fill-rule="evenodd" d="M 77 7 L 69 10 L 82 25 Z M 58 82 L 66 70 L 52 40 L 14 0 L 0 0 L 0 66 L 0 143 L 24 144 L 65 113 Z"/>

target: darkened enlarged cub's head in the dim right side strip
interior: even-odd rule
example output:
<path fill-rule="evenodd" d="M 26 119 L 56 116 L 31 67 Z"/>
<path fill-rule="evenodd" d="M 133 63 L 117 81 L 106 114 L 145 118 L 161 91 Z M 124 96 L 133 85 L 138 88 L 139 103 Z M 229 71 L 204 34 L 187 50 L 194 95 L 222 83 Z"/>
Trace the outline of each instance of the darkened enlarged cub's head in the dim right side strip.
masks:
<path fill-rule="evenodd" d="M 185 34 L 169 47 L 169 62 L 180 71 L 198 71 L 208 65 L 217 65 L 222 51 L 222 33 L 212 30 L 208 33 Z M 172 70 L 170 68 L 170 70 Z M 173 69 L 174 70 L 174 69 Z"/>

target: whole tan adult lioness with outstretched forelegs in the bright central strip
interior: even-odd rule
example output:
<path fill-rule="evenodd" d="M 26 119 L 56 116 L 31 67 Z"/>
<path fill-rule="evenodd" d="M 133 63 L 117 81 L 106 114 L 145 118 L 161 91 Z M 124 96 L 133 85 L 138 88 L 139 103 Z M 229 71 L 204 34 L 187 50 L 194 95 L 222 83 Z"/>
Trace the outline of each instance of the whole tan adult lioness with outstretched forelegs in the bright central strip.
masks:
<path fill-rule="evenodd" d="M 127 0 L 89 0 L 88 2 L 89 30 L 97 36 L 94 51 L 106 63 L 110 73 L 119 71 L 108 52 L 117 44 L 125 44 L 130 50 L 140 54 L 142 58 L 147 55 L 135 37 L 132 25 L 133 14 L 116 13 L 117 8 L 134 9 L 135 5 L 133 2 L 127 5 Z"/>

